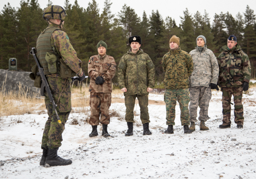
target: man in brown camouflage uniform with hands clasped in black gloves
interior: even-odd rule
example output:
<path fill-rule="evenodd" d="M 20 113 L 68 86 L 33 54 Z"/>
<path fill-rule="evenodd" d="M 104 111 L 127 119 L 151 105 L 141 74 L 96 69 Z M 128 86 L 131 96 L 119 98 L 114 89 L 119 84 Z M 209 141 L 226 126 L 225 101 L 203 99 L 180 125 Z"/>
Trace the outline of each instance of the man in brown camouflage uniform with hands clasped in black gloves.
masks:
<path fill-rule="evenodd" d="M 102 136 L 110 136 L 107 131 L 110 122 L 109 107 L 111 105 L 112 79 L 115 76 L 115 59 L 106 54 L 107 44 L 99 41 L 98 55 L 91 56 L 88 62 L 90 76 L 90 106 L 89 124 L 92 126 L 90 137 L 98 135 L 97 126 L 102 123 Z M 101 116 L 101 120 L 100 120 Z"/>

